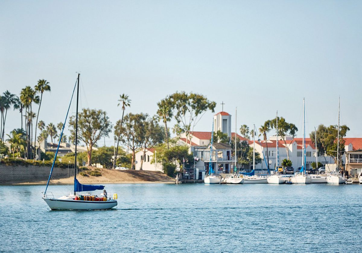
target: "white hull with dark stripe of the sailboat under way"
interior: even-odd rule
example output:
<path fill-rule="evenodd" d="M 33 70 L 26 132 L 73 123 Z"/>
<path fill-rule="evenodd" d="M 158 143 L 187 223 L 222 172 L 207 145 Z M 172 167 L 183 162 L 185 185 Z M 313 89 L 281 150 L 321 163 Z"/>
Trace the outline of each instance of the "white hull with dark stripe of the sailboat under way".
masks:
<path fill-rule="evenodd" d="M 85 201 L 43 198 L 51 210 L 105 210 L 117 206 L 116 200 Z"/>

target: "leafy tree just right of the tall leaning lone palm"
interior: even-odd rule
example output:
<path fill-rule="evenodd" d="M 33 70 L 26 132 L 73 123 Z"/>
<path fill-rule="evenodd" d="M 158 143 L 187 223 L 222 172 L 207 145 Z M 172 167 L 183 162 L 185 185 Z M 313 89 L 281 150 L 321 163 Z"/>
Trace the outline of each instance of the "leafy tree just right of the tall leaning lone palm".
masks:
<path fill-rule="evenodd" d="M 135 151 L 140 147 L 143 141 L 143 123 L 146 120 L 146 115 L 143 113 L 133 114 L 128 113 L 123 119 L 123 125 L 119 120 L 114 129 L 115 134 L 121 132 L 121 142 L 129 147 L 132 151 L 131 169 L 135 169 Z"/>

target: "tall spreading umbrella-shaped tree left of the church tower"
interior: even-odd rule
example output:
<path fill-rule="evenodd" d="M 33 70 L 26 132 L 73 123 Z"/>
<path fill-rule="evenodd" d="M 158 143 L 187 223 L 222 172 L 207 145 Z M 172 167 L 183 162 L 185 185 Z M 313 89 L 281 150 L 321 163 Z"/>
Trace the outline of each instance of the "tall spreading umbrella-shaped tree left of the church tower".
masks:
<path fill-rule="evenodd" d="M 216 102 L 209 101 L 205 96 L 185 91 L 176 92 L 169 96 L 174 108 L 174 118 L 177 125 L 186 135 L 186 143 L 191 145 L 190 132 L 208 110 L 214 112 Z"/>

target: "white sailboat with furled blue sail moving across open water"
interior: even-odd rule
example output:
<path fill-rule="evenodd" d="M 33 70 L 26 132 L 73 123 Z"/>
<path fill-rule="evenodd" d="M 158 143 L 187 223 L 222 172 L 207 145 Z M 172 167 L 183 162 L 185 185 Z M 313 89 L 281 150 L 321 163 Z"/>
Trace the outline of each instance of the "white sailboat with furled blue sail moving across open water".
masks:
<path fill-rule="evenodd" d="M 77 141 L 78 141 L 77 136 L 78 136 L 79 76 L 80 76 L 80 74 L 78 73 L 77 82 L 76 82 L 76 85 L 74 86 L 74 89 L 73 89 L 71 102 L 69 104 L 68 111 L 67 111 L 67 116 L 66 116 L 66 119 L 64 120 L 62 132 L 60 133 L 59 143 L 58 143 L 58 147 L 56 149 L 53 164 L 51 166 L 49 179 L 48 179 L 48 182 L 46 184 L 45 191 L 43 192 L 43 200 L 48 204 L 48 206 L 52 210 L 104 210 L 104 209 L 111 209 L 112 207 L 117 206 L 117 200 L 116 200 L 117 199 L 117 194 L 114 194 L 113 198 L 111 198 L 111 197 L 107 198 L 105 194 L 103 196 L 101 196 L 101 197 L 97 197 L 96 195 L 91 195 L 91 194 L 84 194 L 84 195 L 78 194 L 80 192 L 90 192 L 90 191 L 94 191 L 94 190 L 103 190 L 104 189 L 103 185 L 85 185 L 85 184 L 79 183 L 79 181 L 77 180 Z M 50 196 L 48 197 L 47 196 L 47 189 L 48 189 L 48 186 L 49 186 L 49 181 L 50 181 L 53 169 L 54 169 L 54 164 L 55 164 L 56 156 L 58 155 L 60 141 L 62 140 L 64 127 L 65 127 L 66 122 L 67 122 L 68 113 L 69 113 L 69 110 L 70 110 L 70 106 L 71 106 L 71 103 L 72 103 L 72 99 L 73 99 L 73 95 L 74 95 L 74 91 L 75 91 L 76 87 L 77 87 L 77 111 L 76 111 L 76 128 L 75 128 L 74 191 L 72 193 L 70 193 L 69 195 L 63 196 L 63 197 L 60 197 L 60 198 L 54 198 L 52 193 L 51 193 L 52 197 L 50 197 Z"/>

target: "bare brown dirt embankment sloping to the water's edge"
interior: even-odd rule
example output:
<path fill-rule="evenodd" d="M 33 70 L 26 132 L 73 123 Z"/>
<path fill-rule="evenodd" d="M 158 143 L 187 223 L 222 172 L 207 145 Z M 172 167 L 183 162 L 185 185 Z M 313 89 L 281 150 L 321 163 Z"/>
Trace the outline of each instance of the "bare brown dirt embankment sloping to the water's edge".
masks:
<path fill-rule="evenodd" d="M 159 171 L 126 170 L 117 171 L 104 168 L 88 167 L 88 170 L 81 171 L 77 179 L 82 184 L 118 184 L 118 183 L 175 183 L 175 179 Z M 91 176 L 91 172 L 99 172 L 101 176 Z M 80 175 L 83 174 L 83 175 Z M 74 175 L 74 174 L 73 174 Z M 74 176 L 64 178 L 52 178 L 51 184 L 73 184 Z M 49 175 L 48 175 L 49 176 Z M 47 180 L 12 182 L 13 184 L 46 184 Z"/>

